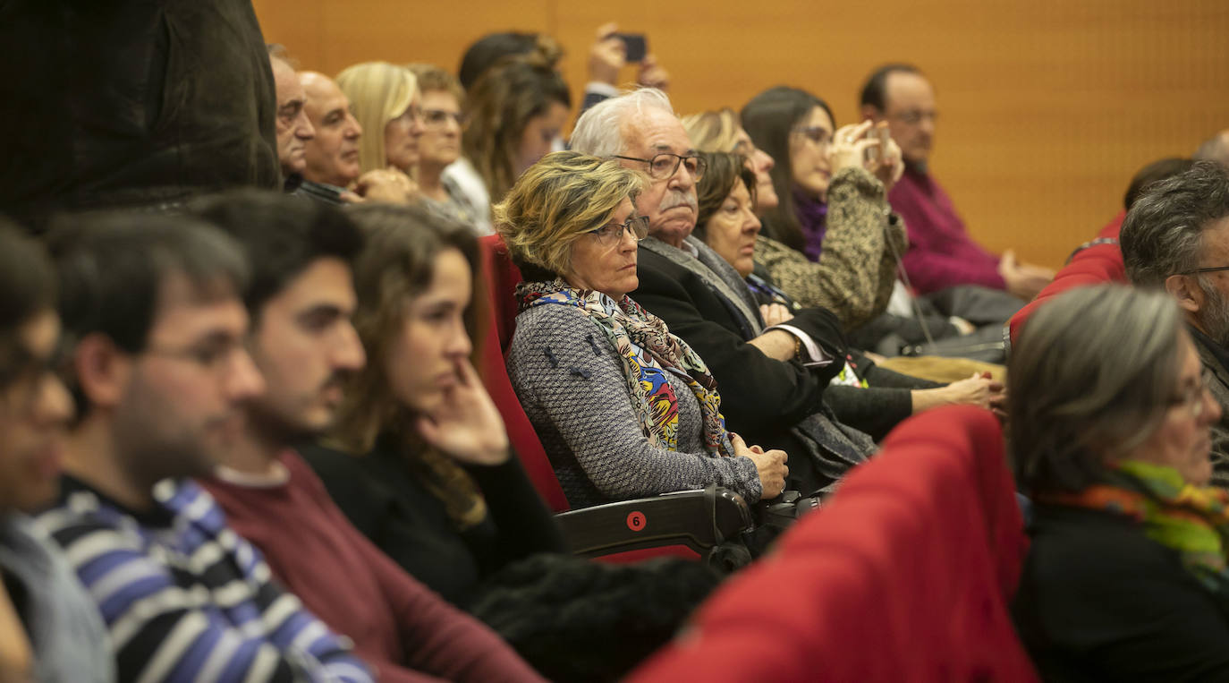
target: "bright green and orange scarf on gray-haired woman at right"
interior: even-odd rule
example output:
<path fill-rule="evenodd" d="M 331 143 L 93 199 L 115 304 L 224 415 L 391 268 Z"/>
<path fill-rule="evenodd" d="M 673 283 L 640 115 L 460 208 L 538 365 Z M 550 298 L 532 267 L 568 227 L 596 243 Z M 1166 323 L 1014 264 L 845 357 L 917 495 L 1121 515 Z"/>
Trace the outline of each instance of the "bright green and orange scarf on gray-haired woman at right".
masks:
<path fill-rule="evenodd" d="M 1187 484 L 1172 468 L 1123 460 L 1110 468 L 1105 484 L 1041 500 L 1132 517 L 1208 589 L 1229 592 L 1229 492 Z"/>

